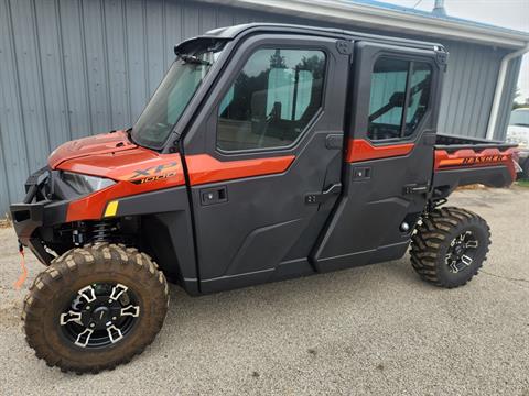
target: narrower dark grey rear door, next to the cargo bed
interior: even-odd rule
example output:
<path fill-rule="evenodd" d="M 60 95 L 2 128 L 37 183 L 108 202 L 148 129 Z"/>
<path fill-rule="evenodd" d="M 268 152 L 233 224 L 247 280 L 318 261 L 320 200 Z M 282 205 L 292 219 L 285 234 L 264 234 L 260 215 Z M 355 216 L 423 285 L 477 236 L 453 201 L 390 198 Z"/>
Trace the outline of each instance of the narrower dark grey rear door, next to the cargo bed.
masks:
<path fill-rule="evenodd" d="M 436 58 L 433 48 L 357 43 L 344 193 L 314 253 L 320 271 L 404 254 L 432 175 Z"/>

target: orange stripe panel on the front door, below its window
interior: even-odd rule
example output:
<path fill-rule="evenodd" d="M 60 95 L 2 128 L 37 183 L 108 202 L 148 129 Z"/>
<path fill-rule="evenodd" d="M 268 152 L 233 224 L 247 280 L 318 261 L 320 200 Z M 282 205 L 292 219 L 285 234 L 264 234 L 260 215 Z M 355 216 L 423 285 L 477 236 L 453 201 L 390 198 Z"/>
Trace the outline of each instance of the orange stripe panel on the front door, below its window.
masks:
<path fill-rule="evenodd" d="M 294 155 L 278 157 L 218 161 L 208 154 L 187 155 L 185 162 L 192 186 L 244 177 L 262 176 L 285 172 Z"/>

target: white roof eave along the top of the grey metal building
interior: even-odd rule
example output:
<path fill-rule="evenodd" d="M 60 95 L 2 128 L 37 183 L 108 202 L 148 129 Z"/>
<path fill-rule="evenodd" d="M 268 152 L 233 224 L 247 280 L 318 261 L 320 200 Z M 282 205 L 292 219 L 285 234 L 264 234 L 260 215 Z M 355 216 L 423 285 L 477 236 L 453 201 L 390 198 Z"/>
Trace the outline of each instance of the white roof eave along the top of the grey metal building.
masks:
<path fill-rule="evenodd" d="M 337 0 L 201 0 L 215 4 L 280 12 L 294 16 L 337 23 L 354 23 L 357 26 L 376 28 L 427 35 L 464 40 L 486 45 L 520 48 L 529 43 L 529 35 L 516 31 L 501 31 L 486 26 L 460 23 L 439 18 L 408 14 L 391 9 Z"/>

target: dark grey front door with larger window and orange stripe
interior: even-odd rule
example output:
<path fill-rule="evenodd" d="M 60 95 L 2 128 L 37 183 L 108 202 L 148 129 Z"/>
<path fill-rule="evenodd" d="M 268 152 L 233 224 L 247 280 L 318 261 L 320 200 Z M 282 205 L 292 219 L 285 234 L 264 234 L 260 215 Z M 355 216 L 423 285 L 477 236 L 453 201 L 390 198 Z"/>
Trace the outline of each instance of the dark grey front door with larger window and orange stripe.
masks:
<path fill-rule="evenodd" d="M 339 193 L 348 65 L 315 36 L 262 34 L 233 54 L 184 141 L 202 292 L 314 272 Z"/>

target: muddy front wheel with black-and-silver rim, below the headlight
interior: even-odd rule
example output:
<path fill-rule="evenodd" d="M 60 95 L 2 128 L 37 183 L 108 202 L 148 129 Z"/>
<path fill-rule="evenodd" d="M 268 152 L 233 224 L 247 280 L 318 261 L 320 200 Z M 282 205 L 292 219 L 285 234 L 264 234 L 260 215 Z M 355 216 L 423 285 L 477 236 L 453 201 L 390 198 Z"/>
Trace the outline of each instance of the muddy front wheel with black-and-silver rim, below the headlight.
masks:
<path fill-rule="evenodd" d="M 141 353 L 168 304 L 165 277 L 147 254 L 107 243 L 73 249 L 30 288 L 26 340 L 50 366 L 97 373 Z"/>

